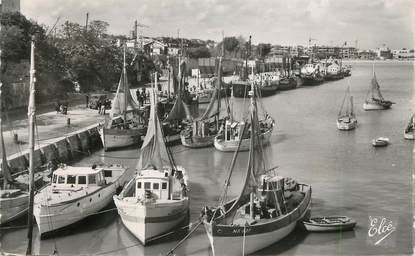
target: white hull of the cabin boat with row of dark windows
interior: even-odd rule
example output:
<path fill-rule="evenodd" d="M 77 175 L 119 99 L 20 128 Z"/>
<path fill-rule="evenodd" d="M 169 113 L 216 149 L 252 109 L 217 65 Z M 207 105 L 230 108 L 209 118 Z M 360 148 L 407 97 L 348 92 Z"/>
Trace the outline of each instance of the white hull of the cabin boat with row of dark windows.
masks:
<path fill-rule="evenodd" d="M 54 205 L 48 205 L 47 198 L 44 198 L 47 193 L 40 191 L 35 196 L 34 205 L 39 233 L 45 236 L 47 233 L 61 230 L 102 210 L 112 202 L 113 195 L 126 183 L 127 179 L 126 171 L 117 181 L 94 193 L 85 192 L 84 196 Z"/>

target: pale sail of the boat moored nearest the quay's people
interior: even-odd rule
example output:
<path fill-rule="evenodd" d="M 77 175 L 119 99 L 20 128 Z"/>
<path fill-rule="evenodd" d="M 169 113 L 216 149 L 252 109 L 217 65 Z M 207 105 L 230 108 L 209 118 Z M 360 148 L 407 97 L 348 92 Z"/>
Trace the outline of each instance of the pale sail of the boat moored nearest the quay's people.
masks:
<path fill-rule="evenodd" d="M 111 103 L 110 117 L 115 117 L 125 114 L 125 112 L 139 109 L 137 103 L 131 96 L 130 86 L 128 84 L 127 68 L 125 64 L 125 52 L 124 52 L 124 65 L 121 74 L 120 82 L 118 83 L 117 92 Z"/>

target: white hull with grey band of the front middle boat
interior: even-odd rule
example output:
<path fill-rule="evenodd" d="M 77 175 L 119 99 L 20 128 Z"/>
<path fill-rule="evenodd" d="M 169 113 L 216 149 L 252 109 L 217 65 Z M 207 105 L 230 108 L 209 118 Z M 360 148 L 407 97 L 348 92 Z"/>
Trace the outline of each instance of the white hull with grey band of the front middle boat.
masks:
<path fill-rule="evenodd" d="M 114 196 L 114 203 L 124 226 L 143 244 L 174 230 L 188 220 L 189 200 L 171 200 L 166 203 L 124 202 Z M 183 224 L 185 225 L 185 224 Z"/>

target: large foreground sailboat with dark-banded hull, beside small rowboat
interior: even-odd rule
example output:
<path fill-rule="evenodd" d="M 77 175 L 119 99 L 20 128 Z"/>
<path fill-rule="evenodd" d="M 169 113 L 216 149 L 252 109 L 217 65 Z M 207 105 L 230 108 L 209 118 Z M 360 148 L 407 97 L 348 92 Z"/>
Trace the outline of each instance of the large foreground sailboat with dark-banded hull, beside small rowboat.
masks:
<path fill-rule="evenodd" d="M 252 125 L 243 186 L 238 196 L 228 201 L 230 179 L 238 157 L 236 150 L 219 205 L 205 206 L 202 210 L 213 255 L 246 255 L 268 247 L 291 233 L 297 222 L 309 215 L 311 207 L 310 185 L 296 182 L 288 186 L 291 178 L 279 176 L 275 173 L 276 167 L 267 166 L 255 90 L 250 94 Z"/>

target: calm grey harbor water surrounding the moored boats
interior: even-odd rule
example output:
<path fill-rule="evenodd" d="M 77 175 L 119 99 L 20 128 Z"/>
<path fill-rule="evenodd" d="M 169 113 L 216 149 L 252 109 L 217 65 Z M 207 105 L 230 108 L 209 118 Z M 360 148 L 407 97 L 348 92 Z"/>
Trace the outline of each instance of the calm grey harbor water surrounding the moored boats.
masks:
<path fill-rule="evenodd" d="M 371 62 L 352 62 L 351 77 L 319 86 L 279 92 L 262 99 L 262 105 L 276 120 L 267 146 L 270 166 L 277 173 L 312 186 L 312 215 L 347 215 L 357 221 L 354 231 L 306 233 L 296 229 L 285 239 L 257 255 L 360 255 L 410 254 L 412 252 L 412 168 L 413 142 L 403 139 L 412 115 L 414 69 L 412 62 L 375 62 L 376 74 L 385 99 L 396 102 L 390 110 L 363 111 L 362 105 L 372 79 Z M 358 127 L 353 131 L 336 128 L 337 113 L 344 92 L 350 86 Z M 234 110 L 243 109 L 235 99 Z M 248 103 L 248 102 L 245 102 Z M 373 148 L 371 140 L 388 137 L 391 144 Z M 212 148 L 172 149 L 175 161 L 186 168 L 190 179 L 190 221 L 196 224 L 204 205 L 216 206 L 222 191 L 231 153 Z M 98 151 L 77 166 L 93 163 L 121 163 L 135 168 L 138 148 Z M 231 194 L 240 185 L 247 153 L 241 153 L 231 184 Z M 53 238 L 40 240 L 34 228 L 36 254 L 59 255 L 165 255 L 183 236 L 175 233 L 156 243 L 142 246 L 123 226 L 112 210 L 90 216 Z M 374 244 L 368 235 L 370 218 L 393 221 L 396 231 L 384 244 Z M 13 225 L 24 225 L 25 221 Z M 1 251 L 24 254 L 25 228 L 1 230 Z M 183 233 L 183 232 L 182 232 Z M 241 245 L 242 246 L 242 245 Z M 232 248 L 229 248 L 230 250 Z M 176 255 L 212 255 L 205 230 L 200 226 L 176 251 Z"/>

